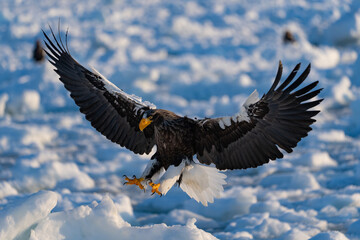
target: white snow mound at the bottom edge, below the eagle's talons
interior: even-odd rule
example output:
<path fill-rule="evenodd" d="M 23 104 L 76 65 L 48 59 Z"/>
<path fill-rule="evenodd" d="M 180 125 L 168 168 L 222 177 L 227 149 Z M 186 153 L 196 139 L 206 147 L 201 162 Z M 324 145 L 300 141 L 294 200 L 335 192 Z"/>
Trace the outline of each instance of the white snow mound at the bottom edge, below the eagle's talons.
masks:
<path fill-rule="evenodd" d="M 195 219 L 186 226 L 132 227 L 121 218 L 114 202 L 105 196 L 98 204 L 80 206 L 68 212 L 50 213 L 31 230 L 30 239 L 216 239 L 195 226 Z"/>

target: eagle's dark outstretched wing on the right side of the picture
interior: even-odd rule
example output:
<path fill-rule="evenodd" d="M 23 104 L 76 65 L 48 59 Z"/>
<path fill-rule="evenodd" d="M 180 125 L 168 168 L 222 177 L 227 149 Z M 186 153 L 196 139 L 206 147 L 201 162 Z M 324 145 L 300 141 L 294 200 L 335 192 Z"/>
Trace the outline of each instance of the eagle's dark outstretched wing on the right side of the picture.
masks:
<path fill-rule="evenodd" d="M 319 111 L 309 110 L 322 99 L 313 100 L 322 89 L 312 91 L 318 81 L 298 89 L 310 72 L 310 65 L 293 81 L 300 64 L 278 87 L 282 64 L 268 93 L 260 100 L 253 93 L 242 112 L 233 117 L 201 119 L 196 139 L 197 158 L 219 169 L 257 167 L 282 158 L 279 148 L 292 152 L 311 130 Z M 295 90 L 295 91 L 294 91 Z"/>

